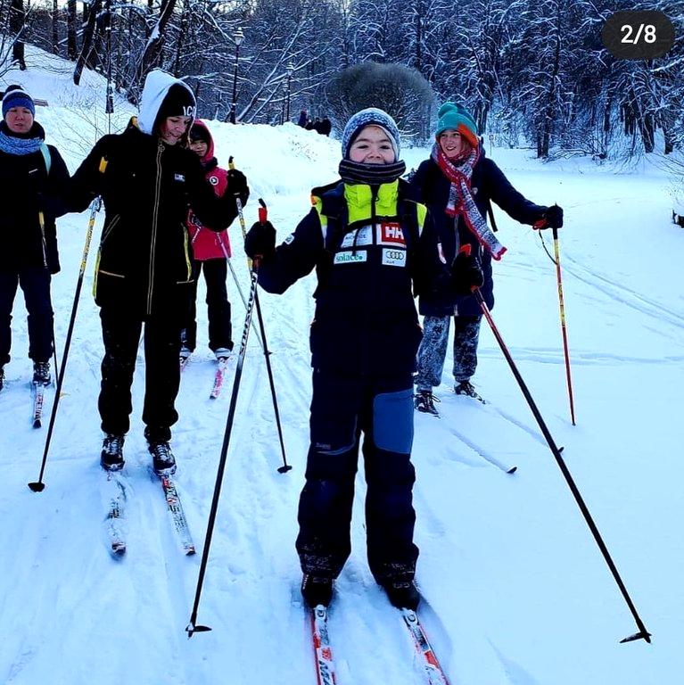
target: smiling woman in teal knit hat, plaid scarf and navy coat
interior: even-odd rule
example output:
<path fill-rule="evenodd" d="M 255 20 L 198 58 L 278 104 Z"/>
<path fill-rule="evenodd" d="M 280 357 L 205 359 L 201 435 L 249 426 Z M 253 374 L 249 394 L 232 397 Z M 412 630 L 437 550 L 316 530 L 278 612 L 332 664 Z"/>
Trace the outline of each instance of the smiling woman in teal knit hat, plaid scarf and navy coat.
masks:
<path fill-rule="evenodd" d="M 464 268 L 482 265 L 482 297 L 494 306 L 491 259 L 506 252 L 486 223 L 490 201 L 522 224 L 540 228 L 562 227 L 563 210 L 525 199 L 499 167 L 484 155 L 471 115 L 460 105 L 444 103 L 439 111 L 430 159 L 418 167 L 411 186 L 429 208 L 439 235 L 442 259 L 463 261 Z M 470 257 L 461 252 L 470 245 Z M 467 262 L 467 263 L 466 263 Z M 424 315 L 423 342 L 418 352 L 416 409 L 437 415 L 433 388 L 441 373 L 449 343 L 449 320 L 454 318 L 454 392 L 482 401 L 470 379 L 477 366 L 477 342 L 482 310 L 472 294 L 459 295 L 450 288 L 424 293 L 419 300 Z"/>

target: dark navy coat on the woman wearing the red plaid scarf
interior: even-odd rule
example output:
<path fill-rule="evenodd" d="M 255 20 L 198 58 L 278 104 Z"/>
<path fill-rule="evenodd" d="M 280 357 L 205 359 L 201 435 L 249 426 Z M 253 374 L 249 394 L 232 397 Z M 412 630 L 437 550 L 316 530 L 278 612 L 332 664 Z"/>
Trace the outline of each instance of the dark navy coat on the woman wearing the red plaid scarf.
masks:
<path fill-rule="evenodd" d="M 474 252 L 480 254 L 482 260 L 482 272 L 484 285 L 480 289 L 487 306 L 494 306 L 494 283 L 491 274 L 491 255 L 482 249 L 475 236 L 466 227 L 465 221 L 455 219 L 445 213 L 449 202 L 449 179 L 444 176 L 441 169 L 432 158 L 425 160 L 418 167 L 416 174 L 411 178 L 411 186 L 424 202 L 433 215 L 437 234 L 441 242 L 442 252 L 450 265 L 456 256 L 461 244 L 470 243 Z M 475 164 L 472 178 L 472 192 L 482 217 L 487 217 L 487 205 L 491 201 L 496 202 L 508 216 L 521 224 L 532 224 L 541 218 L 547 209 L 525 199 L 511 186 L 503 171 L 490 159 L 485 157 L 484 150 L 480 148 L 480 160 Z M 504 257 L 506 259 L 506 257 Z M 482 314 L 473 295 L 456 296 L 446 290 L 440 292 L 427 292 L 419 299 L 420 313 L 424 316 L 446 317 L 456 313 L 460 316 L 474 317 Z"/>

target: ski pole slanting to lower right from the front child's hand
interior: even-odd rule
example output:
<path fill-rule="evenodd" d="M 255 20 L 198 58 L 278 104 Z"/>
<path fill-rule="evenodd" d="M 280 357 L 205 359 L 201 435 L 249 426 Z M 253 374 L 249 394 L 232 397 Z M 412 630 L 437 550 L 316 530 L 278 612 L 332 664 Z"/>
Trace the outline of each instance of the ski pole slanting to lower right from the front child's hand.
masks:
<path fill-rule="evenodd" d="M 569 485 L 570 490 L 573 492 L 574 499 L 577 501 L 577 504 L 580 507 L 581 513 L 584 516 L 585 521 L 589 525 L 589 530 L 591 531 L 591 533 L 594 536 L 594 540 L 596 541 L 596 543 L 598 545 L 598 549 L 601 550 L 601 554 L 603 554 L 603 557 L 606 560 L 606 564 L 608 565 L 608 568 L 610 569 L 611 573 L 613 574 L 613 577 L 615 579 L 615 582 L 617 583 L 618 588 L 620 588 L 620 591 L 622 592 L 622 597 L 627 602 L 627 606 L 630 607 L 631 615 L 634 616 L 634 620 L 637 623 L 637 627 L 639 628 L 639 632 L 635 633 L 634 635 L 630 635 L 629 637 L 624 638 L 623 640 L 620 640 L 620 641 L 621 642 L 630 642 L 631 640 L 646 640 L 647 642 L 650 642 L 651 641 L 651 633 L 647 631 L 646 626 L 641 621 L 641 618 L 639 617 L 637 609 L 636 609 L 636 607 L 634 607 L 634 604 L 631 601 L 630 594 L 627 592 L 627 588 L 625 587 L 624 583 L 622 582 L 622 578 L 620 577 L 620 574 L 618 573 L 617 567 L 614 565 L 613 559 L 611 558 L 610 553 L 608 552 L 608 548 L 606 547 L 606 543 L 603 541 L 603 538 L 601 537 L 601 533 L 598 532 L 598 528 L 597 528 L 597 525 L 594 523 L 594 519 L 591 517 L 591 514 L 589 514 L 589 508 L 587 508 L 587 505 L 584 503 L 584 499 L 582 499 L 581 493 L 580 493 L 577 485 L 574 483 L 573 476 L 570 474 L 570 470 L 565 465 L 565 459 L 561 456 L 561 451 L 563 450 L 563 448 L 559 449 L 558 447 L 556 447 L 556 442 L 554 442 L 554 439 L 551 436 L 551 433 L 549 433 L 548 427 L 547 427 L 546 423 L 544 422 L 544 419 L 541 417 L 540 410 L 537 409 L 537 405 L 535 404 L 534 400 L 532 400 L 532 394 L 527 389 L 527 385 L 525 385 L 525 382 L 523 381 L 523 376 L 520 375 L 520 372 L 518 371 L 517 367 L 515 366 L 515 361 L 511 357 L 511 354 L 508 351 L 506 343 L 504 342 L 504 339 L 501 337 L 501 334 L 499 333 L 499 329 L 494 324 L 494 319 L 491 318 L 490 309 L 489 309 L 489 307 L 487 307 L 487 303 L 484 301 L 484 298 L 482 297 L 482 293 L 480 292 L 480 289 L 479 288 L 473 288 L 473 294 L 474 294 L 475 299 L 477 300 L 478 304 L 480 305 L 480 309 L 482 309 L 482 314 L 484 314 L 484 318 L 487 319 L 487 323 L 490 325 L 491 332 L 494 334 L 494 337 L 497 339 L 497 342 L 499 342 L 499 347 L 501 348 L 501 351 L 504 353 L 504 357 L 506 357 L 506 360 L 508 362 L 508 366 L 511 367 L 511 371 L 513 371 L 513 375 L 515 376 L 515 380 L 518 382 L 518 385 L 520 385 L 520 389 L 523 391 L 523 395 L 525 397 L 525 400 L 527 400 L 527 403 L 530 405 L 530 409 L 532 409 L 532 414 L 537 419 L 537 423 L 540 426 L 541 433 L 544 433 L 544 437 L 546 438 L 546 441 L 548 442 L 549 450 L 551 450 L 551 452 L 553 453 L 553 456 L 556 458 L 556 463 L 558 464 L 561 472 L 565 476 L 565 481 Z"/>

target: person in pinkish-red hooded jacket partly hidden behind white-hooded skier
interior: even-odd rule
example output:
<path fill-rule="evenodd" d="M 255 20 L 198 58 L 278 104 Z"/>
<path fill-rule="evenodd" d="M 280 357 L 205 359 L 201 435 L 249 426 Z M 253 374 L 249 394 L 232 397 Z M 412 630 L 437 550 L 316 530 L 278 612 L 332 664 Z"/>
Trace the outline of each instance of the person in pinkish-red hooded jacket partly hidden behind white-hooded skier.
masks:
<path fill-rule="evenodd" d="M 190 149 L 202 161 L 207 180 L 218 197 L 229 189 L 238 194 L 247 187 L 242 172 L 237 169 L 221 169 L 214 157 L 214 141 L 210 130 L 202 120 L 196 120 L 190 129 Z M 197 282 L 204 271 L 207 284 L 207 306 L 209 308 L 209 347 L 218 360 L 227 359 L 233 350 L 233 327 L 230 320 L 230 302 L 226 289 L 227 260 L 231 257 L 230 238 L 227 230 L 216 233 L 202 226 L 193 210 L 188 211 L 187 228 L 193 244 L 193 279 L 190 293 L 190 308 L 185 328 L 181 334 L 181 362 L 194 351 L 197 344 Z"/>

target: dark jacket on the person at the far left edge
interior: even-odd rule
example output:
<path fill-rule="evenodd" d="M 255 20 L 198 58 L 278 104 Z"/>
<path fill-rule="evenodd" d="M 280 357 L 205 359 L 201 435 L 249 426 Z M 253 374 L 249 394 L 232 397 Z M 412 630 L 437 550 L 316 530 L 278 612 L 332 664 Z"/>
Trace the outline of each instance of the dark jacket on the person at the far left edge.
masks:
<path fill-rule="evenodd" d="M 11 136 L 4 121 L 0 126 Z M 45 131 L 34 122 L 27 137 L 45 140 Z M 29 154 L 11 154 L 0 150 L 0 187 L 3 210 L 0 211 L 0 270 L 16 271 L 25 267 L 45 267 L 51 274 L 60 270 L 57 231 L 54 219 L 68 206 L 58 198 L 64 194 L 69 171 L 54 145 L 50 153 L 50 173 L 40 150 Z M 43 211 L 45 227 L 39 212 Z"/>

